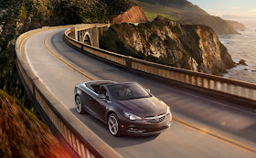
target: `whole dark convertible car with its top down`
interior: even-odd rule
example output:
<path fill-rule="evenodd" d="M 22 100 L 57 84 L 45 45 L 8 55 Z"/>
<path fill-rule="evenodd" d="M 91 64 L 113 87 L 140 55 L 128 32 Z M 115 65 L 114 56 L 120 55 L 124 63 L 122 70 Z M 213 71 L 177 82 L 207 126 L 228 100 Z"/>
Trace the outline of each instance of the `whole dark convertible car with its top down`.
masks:
<path fill-rule="evenodd" d="M 136 82 L 81 82 L 74 92 L 76 110 L 106 122 L 114 136 L 156 134 L 171 125 L 170 108 Z"/>

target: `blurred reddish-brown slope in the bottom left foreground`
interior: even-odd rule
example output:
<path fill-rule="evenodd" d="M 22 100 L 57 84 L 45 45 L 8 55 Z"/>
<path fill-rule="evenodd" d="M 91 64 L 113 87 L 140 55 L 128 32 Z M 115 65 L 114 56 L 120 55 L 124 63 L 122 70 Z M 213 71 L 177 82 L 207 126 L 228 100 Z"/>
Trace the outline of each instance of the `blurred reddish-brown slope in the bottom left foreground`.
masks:
<path fill-rule="evenodd" d="M 0 115 L 0 157 L 70 157 L 46 125 L 3 90 Z"/>

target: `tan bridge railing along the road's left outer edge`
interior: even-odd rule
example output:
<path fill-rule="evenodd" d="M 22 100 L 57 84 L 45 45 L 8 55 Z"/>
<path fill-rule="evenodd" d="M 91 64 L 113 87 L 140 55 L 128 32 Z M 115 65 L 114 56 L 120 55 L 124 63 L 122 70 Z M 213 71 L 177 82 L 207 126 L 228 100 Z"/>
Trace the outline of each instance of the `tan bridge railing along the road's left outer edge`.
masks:
<path fill-rule="evenodd" d="M 16 60 L 17 69 L 21 78 L 26 82 L 27 88 L 30 90 L 33 98 L 41 106 L 43 111 L 69 145 L 74 149 L 80 157 L 121 157 L 109 145 L 102 142 L 91 130 L 80 122 L 73 114 L 67 110 L 45 87 L 45 85 L 37 79 L 24 57 L 23 42 L 32 35 L 40 32 L 66 28 L 70 26 L 45 26 L 35 30 L 28 31 L 16 39 Z"/>

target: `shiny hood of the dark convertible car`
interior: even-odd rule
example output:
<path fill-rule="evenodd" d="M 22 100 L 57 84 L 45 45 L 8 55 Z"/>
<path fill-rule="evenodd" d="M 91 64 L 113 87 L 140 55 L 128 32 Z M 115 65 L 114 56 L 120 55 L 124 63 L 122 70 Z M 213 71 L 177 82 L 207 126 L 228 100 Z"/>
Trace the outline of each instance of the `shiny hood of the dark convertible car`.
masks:
<path fill-rule="evenodd" d="M 118 100 L 125 108 L 140 116 L 154 116 L 166 112 L 167 106 L 155 97 L 134 100 Z"/>

